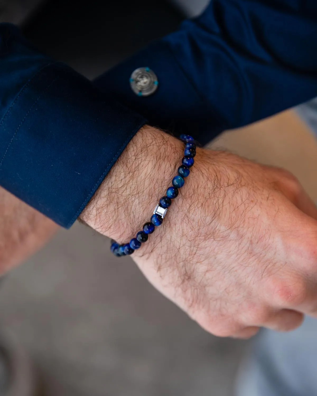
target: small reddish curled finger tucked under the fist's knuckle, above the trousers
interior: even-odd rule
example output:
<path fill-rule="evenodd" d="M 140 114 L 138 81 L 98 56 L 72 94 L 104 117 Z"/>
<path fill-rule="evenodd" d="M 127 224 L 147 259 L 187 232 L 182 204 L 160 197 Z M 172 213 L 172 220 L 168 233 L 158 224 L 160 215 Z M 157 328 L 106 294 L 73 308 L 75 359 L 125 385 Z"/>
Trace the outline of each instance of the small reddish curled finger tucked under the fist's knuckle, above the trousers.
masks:
<path fill-rule="evenodd" d="M 276 331 L 290 331 L 297 329 L 303 320 L 304 315 L 301 312 L 282 309 L 274 312 L 261 326 Z"/>

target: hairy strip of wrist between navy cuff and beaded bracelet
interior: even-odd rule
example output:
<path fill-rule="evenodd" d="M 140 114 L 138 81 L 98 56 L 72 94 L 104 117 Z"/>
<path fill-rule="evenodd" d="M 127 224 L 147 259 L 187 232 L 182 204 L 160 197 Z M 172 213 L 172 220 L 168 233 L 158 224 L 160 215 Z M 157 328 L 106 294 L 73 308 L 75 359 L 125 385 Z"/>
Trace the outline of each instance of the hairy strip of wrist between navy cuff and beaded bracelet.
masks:
<path fill-rule="evenodd" d="M 118 242 L 129 240 L 149 221 L 182 156 L 181 141 L 144 126 L 122 152 L 79 218 Z"/>

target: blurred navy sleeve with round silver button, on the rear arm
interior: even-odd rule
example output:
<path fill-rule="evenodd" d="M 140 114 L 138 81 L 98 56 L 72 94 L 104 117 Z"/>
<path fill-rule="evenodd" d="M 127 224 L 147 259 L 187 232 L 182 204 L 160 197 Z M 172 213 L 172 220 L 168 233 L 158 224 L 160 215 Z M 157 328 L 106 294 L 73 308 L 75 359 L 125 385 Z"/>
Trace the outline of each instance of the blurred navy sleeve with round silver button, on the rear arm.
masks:
<path fill-rule="evenodd" d="M 151 96 L 130 89 L 138 67 L 157 75 Z M 152 125 L 205 144 L 317 95 L 317 2 L 212 0 L 96 84 Z"/>

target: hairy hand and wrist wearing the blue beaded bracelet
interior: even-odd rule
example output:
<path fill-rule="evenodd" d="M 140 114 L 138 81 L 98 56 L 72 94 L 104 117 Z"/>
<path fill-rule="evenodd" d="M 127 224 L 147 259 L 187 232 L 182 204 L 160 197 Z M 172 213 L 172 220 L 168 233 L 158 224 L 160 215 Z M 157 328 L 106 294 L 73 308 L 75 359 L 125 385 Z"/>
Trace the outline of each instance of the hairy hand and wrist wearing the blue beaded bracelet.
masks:
<path fill-rule="evenodd" d="M 183 143 L 141 129 L 80 216 L 128 242 L 165 195 Z M 250 337 L 317 314 L 317 210 L 288 172 L 197 148 L 163 224 L 132 258 L 204 329 Z M 124 260 L 121 258 L 121 260 Z"/>

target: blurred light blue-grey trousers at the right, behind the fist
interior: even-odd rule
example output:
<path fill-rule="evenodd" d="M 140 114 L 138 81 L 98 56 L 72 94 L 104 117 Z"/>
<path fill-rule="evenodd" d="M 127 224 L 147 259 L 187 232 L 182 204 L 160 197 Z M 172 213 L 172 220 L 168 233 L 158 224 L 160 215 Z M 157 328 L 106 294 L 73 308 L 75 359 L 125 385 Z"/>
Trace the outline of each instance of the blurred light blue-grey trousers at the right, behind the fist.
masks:
<path fill-rule="evenodd" d="M 317 137 L 317 98 L 296 110 Z M 317 396 L 317 320 L 306 318 L 290 333 L 263 330 L 241 365 L 235 395 Z"/>

